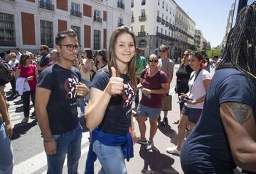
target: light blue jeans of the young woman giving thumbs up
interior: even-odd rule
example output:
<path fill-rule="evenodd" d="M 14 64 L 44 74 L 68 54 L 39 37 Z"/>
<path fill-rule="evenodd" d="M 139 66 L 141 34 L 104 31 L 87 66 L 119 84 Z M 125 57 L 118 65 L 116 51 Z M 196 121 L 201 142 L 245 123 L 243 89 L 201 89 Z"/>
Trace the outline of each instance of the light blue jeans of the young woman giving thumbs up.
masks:
<path fill-rule="evenodd" d="M 102 166 L 99 174 L 127 173 L 124 154 L 120 146 L 106 146 L 100 143 L 100 141 L 95 140 L 92 145 L 92 150 L 96 153 Z"/>

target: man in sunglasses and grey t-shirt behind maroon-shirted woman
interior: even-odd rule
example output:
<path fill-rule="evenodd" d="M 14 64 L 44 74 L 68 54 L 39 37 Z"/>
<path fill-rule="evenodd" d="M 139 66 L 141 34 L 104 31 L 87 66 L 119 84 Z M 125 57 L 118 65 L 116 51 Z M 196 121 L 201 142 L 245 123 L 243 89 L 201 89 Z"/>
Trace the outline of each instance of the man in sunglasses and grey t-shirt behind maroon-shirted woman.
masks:
<path fill-rule="evenodd" d="M 168 57 L 168 47 L 166 45 L 160 45 L 159 47 L 159 53 L 160 53 L 160 57 L 161 59 L 159 59 L 159 69 L 161 71 L 164 71 L 166 76 L 168 77 L 168 85 L 169 85 L 169 89 L 170 89 L 170 83 L 171 80 L 173 78 L 173 74 L 174 74 L 174 62 L 171 61 L 171 59 L 169 59 Z M 166 93 L 166 95 L 169 95 L 169 91 L 168 93 Z M 163 103 L 164 105 L 164 103 Z M 164 120 L 161 122 L 162 125 L 166 126 L 168 125 L 168 119 L 167 119 L 167 113 L 168 111 L 164 111 Z M 159 121 L 161 120 L 161 117 L 159 115 Z"/>

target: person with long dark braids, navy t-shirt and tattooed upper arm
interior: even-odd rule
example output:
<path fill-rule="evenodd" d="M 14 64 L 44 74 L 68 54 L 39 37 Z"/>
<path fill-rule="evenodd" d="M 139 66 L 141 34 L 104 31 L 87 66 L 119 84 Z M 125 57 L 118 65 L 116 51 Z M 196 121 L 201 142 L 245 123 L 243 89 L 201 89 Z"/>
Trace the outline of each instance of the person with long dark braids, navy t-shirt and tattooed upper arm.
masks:
<path fill-rule="evenodd" d="M 181 149 L 184 173 L 256 172 L 256 2 L 240 11 L 206 94 L 201 119 Z"/>

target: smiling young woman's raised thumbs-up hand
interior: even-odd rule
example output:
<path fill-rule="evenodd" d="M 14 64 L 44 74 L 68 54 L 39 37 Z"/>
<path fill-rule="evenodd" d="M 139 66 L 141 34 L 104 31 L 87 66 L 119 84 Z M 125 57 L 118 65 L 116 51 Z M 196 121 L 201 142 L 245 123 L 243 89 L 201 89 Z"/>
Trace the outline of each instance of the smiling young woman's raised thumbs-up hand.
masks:
<path fill-rule="evenodd" d="M 124 79 L 117 77 L 117 71 L 111 67 L 112 76 L 107 84 L 106 91 L 110 95 L 121 94 L 124 90 Z"/>

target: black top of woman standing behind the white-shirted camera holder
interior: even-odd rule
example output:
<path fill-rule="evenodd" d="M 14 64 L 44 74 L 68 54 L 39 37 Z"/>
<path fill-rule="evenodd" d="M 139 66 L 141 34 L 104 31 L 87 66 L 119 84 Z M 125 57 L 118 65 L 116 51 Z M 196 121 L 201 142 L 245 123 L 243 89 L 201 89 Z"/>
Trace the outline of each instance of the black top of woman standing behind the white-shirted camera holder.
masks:
<path fill-rule="evenodd" d="M 188 88 L 188 81 L 191 76 L 191 72 L 193 72 L 193 69 L 191 69 L 191 66 L 189 65 L 183 65 L 179 67 L 179 69 L 176 71 L 176 93 L 187 93 Z"/>

